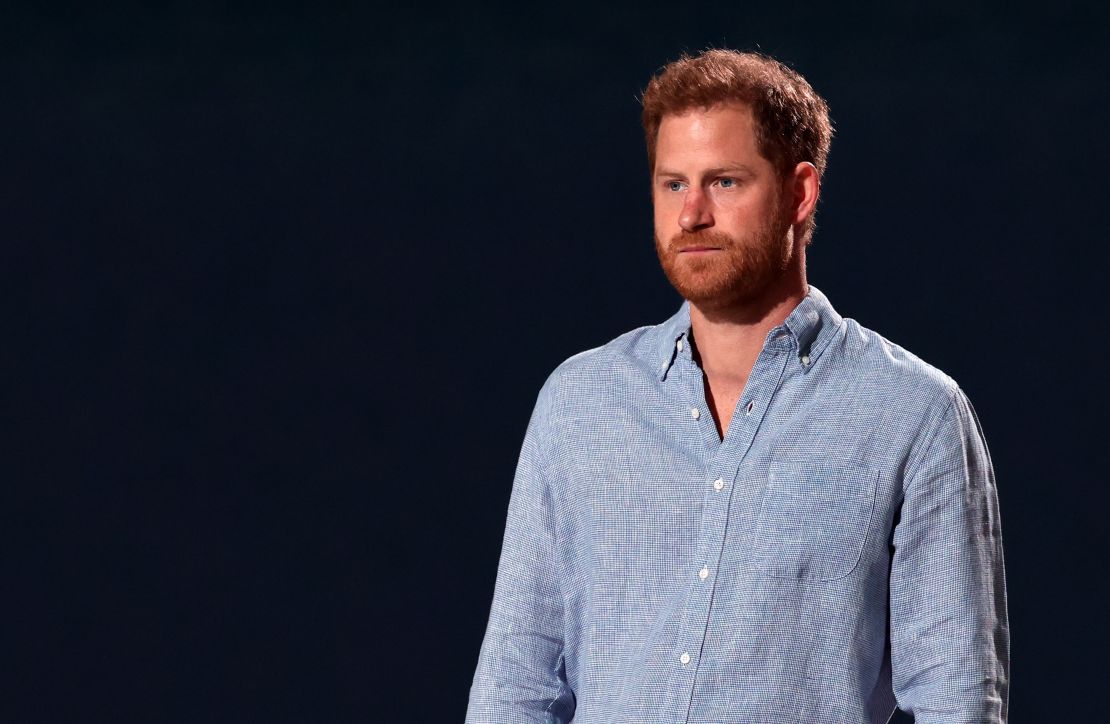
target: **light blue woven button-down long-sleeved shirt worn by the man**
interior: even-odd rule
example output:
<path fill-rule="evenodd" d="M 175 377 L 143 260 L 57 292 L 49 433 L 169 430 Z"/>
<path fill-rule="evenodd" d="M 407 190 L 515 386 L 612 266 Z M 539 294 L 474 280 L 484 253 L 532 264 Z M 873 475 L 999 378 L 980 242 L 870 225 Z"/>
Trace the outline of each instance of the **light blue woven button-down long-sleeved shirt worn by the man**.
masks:
<path fill-rule="evenodd" d="M 971 404 L 815 286 L 724 441 L 687 303 L 543 385 L 467 722 L 982 724 L 1008 687 Z"/>

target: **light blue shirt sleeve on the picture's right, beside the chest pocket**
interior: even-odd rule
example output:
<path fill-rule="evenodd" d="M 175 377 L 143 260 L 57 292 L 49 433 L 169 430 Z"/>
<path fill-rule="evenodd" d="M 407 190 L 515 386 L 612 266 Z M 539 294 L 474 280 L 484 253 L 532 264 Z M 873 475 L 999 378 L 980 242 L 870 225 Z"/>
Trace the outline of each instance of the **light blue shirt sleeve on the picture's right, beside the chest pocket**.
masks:
<path fill-rule="evenodd" d="M 918 724 L 1007 718 L 1010 632 L 995 473 L 956 388 L 908 471 L 890 570 L 898 706 Z"/>

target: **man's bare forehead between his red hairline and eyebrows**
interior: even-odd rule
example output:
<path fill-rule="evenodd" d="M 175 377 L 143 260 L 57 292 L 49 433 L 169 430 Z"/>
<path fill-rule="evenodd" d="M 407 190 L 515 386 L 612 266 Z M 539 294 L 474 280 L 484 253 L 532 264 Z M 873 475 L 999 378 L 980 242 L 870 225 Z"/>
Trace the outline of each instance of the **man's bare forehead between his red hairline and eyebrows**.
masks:
<path fill-rule="evenodd" d="M 704 157 L 729 157 L 751 162 L 761 158 L 756 143 L 755 118 L 744 103 L 719 103 L 668 113 L 659 122 L 656 162 L 694 161 Z"/>

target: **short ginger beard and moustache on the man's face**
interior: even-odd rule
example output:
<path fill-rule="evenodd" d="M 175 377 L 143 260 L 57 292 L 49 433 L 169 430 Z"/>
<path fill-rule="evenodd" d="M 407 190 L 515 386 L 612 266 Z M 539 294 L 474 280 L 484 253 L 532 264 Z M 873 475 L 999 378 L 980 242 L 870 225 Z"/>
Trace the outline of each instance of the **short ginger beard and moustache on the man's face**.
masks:
<path fill-rule="evenodd" d="M 689 247 L 722 251 L 679 252 Z M 664 244 L 656 232 L 655 251 L 663 272 L 684 299 L 702 309 L 723 309 L 757 300 L 781 279 L 794 255 L 794 233 L 779 200 L 774 213 L 744 239 L 712 229 L 682 230 Z"/>

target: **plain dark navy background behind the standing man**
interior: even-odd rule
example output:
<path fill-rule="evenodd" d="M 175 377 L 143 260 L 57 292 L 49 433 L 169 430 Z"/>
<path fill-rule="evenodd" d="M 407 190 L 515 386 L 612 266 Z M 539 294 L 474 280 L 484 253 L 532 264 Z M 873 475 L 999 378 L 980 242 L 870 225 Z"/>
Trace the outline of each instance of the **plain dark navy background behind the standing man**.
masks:
<path fill-rule="evenodd" d="M 19 722 L 461 721 L 536 392 L 679 299 L 637 97 L 760 49 L 837 127 L 809 279 L 995 460 L 1016 722 L 1100 721 L 1106 6 L 3 11 Z"/>

